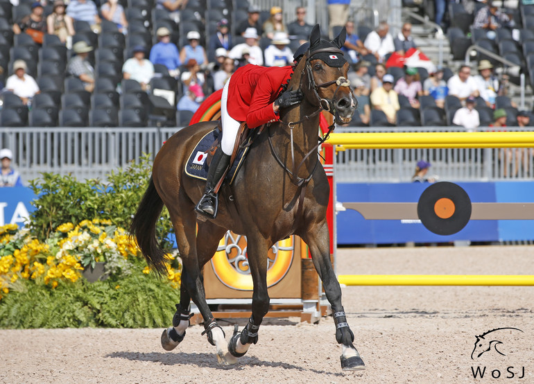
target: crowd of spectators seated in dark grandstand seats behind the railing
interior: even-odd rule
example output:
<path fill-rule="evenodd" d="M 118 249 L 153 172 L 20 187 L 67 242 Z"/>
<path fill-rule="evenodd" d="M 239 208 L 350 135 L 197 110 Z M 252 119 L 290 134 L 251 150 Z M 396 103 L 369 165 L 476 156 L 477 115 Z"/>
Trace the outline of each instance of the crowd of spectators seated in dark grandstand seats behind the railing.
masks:
<path fill-rule="evenodd" d="M 15 94 L 30 108 L 29 119 L 27 112 L 19 121 L 1 114 L 2 125 L 184 125 L 237 68 L 291 64 L 312 27 L 304 7 L 296 8 L 286 25 L 281 7 L 261 10 L 247 1 L 71 0 L 67 6 L 63 0 L 20 1 L 11 15 L 3 16 L 11 28 L 0 35 L 0 85 L 5 85 L 4 94 Z M 344 19 L 346 5 L 329 1 L 328 9 Z M 515 26 L 492 3 L 474 12 L 473 26 L 477 23 L 483 23 L 488 38 L 495 38 L 490 32 L 498 28 Z M 364 35 L 351 17 L 332 27 L 342 26 L 347 28 L 343 51 L 351 63 L 349 78 L 359 101 L 351 125 L 463 125 L 474 130 L 496 123 L 493 112 L 499 109 L 509 115 L 506 123 L 517 123 L 506 79 L 496 76 L 490 60 L 479 60 L 476 76 L 468 65 L 456 73 L 447 67 L 401 68 L 388 59 L 417 48 L 410 23 L 395 37 L 386 21 Z M 66 97 L 72 93 L 77 96 Z M 55 105 L 43 103 L 43 95 Z M 4 109 L 20 107 L 9 100 Z M 50 115 L 48 120 L 33 119 L 33 110 L 40 108 Z M 98 113 L 100 109 L 106 113 Z M 74 112 L 67 110 L 75 110 L 80 121 L 69 119 Z M 134 110 L 139 119 L 126 119 L 123 110 Z M 98 119 L 104 115 L 108 119 Z"/>

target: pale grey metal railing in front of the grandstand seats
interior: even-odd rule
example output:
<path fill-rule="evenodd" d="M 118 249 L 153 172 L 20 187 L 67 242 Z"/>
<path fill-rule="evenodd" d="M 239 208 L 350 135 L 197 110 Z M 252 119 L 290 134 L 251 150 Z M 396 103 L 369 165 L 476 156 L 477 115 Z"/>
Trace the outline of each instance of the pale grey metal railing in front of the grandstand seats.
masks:
<path fill-rule="evenodd" d="M 154 157 L 180 128 L 0 128 L 0 148 L 13 150 L 24 180 L 41 172 L 104 179 L 110 171 Z M 520 130 L 508 127 L 508 130 Z M 458 127 L 336 128 L 336 132 L 458 132 Z M 485 128 L 481 130 L 492 130 Z M 338 182 L 409 182 L 418 160 L 448 181 L 533 180 L 534 149 L 350 149 L 336 155 Z M 517 172 L 516 172 L 517 171 Z"/>

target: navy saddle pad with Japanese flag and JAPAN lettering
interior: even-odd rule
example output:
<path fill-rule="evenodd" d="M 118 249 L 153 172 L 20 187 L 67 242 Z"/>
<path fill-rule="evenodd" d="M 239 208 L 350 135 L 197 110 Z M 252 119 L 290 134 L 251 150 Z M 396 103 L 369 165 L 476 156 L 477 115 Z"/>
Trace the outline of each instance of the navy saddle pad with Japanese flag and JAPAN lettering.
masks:
<path fill-rule="evenodd" d="M 185 164 L 185 173 L 189 177 L 206 180 L 207 171 L 209 170 L 209 166 L 206 162 L 208 150 L 212 147 L 212 144 L 220 134 L 221 131 L 215 128 L 214 130 L 207 132 L 207 134 L 205 134 L 204 137 L 198 141 L 195 149 L 193 149 L 193 152 L 191 152 L 191 155 L 189 155 L 189 159 L 187 159 L 187 163 Z M 248 140 L 250 140 L 250 137 Z M 244 148 L 243 146 L 239 147 L 234 164 L 232 164 L 230 171 L 228 171 L 226 174 L 225 183 L 232 184 L 235 176 L 237 175 L 237 171 L 239 171 L 241 164 L 243 164 L 243 161 L 245 160 L 247 153 L 248 146 L 245 146 Z"/>

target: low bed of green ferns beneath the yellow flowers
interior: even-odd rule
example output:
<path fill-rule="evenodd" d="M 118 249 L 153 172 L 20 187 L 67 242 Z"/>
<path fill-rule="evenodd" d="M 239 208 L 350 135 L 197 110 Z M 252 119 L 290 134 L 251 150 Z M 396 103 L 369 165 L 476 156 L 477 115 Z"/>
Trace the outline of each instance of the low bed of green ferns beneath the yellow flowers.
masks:
<path fill-rule="evenodd" d="M 128 277 L 60 283 L 19 280 L 0 301 L 0 328 L 160 328 L 172 323 L 180 290 L 137 270 Z"/>

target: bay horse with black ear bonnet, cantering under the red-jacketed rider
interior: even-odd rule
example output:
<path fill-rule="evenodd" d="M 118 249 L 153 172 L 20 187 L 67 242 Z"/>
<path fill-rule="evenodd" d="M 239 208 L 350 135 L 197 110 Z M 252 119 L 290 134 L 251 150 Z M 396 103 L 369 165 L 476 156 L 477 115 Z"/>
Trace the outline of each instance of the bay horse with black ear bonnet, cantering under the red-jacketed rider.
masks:
<path fill-rule="evenodd" d="M 196 143 L 214 130 L 217 122 L 200 122 L 176 132 L 157 153 L 130 233 L 135 235 L 148 265 L 165 273 L 164 252 L 155 227 L 163 207 L 169 210 L 183 270 L 173 326 L 162 333 L 164 349 L 174 349 L 184 339 L 192 299 L 205 321 L 203 335 L 216 347 L 218 363 L 234 364 L 244 356 L 250 345 L 257 343 L 259 326 L 269 308 L 268 250 L 277 241 L 295 234 L 309 246 L 331 304 L 336 341 L 342 344 L 342 369 L 365 369 L 353 344 L 354 333 L 347 323 L 341 288 L 330 260 L 326 219 L 329 184 L 317 150 L 320 112 L 326 110 L 334 115 L 335 123 L 346 124 L 356 109 L 356 98 L 347 80 L 349 64 L 346 60 L 343 67 L 326 63 L 328 58 L 343 58 L 340 49 L 345 37 L 343 28 L 334 40 L 321 40 L 320 27 L 313 28 L 309 49 L 286 85 L 288 91 L 300 89 L 302 101 L 281 110 L 279 121 L 269 123 L 257 134 L 234 182 L 223 184 L 219 190 L 216 218 L 201 220 L 196 216 L 194 207 L 203 195 L 204 183 L 188 177 L 184 164 Z M 334 124 L 330 130 L 333 128 Z M 246 235 L 253 294 L 248 324 L 241 332 L 235 326 L 234 334 L 226 342 L 223 329 L 206 302 L 200 271 L 212 259 L 228 229 Z"/>

